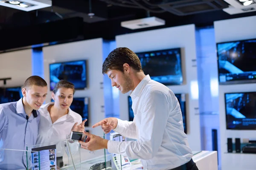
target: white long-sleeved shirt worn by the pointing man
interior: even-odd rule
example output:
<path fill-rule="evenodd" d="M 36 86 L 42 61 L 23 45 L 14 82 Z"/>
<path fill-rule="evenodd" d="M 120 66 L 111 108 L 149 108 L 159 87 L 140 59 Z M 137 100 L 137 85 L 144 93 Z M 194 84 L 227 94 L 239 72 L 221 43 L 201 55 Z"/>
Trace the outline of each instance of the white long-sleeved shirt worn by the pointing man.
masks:
<path fill-rule="evenodd" d="M 108 141 L 108 152 L 142 159 L 144 170 L 170 170 L 192 159 L 175 94 L 147 75 L 130 93 L 134 121 L 114 131 L 137 141 Z"/>

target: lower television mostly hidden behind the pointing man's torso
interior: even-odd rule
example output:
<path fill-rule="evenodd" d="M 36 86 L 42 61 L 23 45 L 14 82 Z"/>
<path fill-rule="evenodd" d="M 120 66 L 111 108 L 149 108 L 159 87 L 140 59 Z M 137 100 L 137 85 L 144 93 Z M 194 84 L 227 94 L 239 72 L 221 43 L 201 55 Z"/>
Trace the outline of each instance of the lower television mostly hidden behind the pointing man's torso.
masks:
<path fill-rule="evenodd" d="M 182 119 L 183 119 L 183 128 L 184 132 L 187 133 L 187 126 L 186 126 L 186 94 L 175 94 L 177 97 L 179 103 L 180 103 L 180 110 L 182 114 Z M 131 96 L 128 96 L 128 111 L 129 111 L 129 121 L 133 121 L 134 119 L 134 112 L 131 108 L 132 105 L 132 100 Z"/>

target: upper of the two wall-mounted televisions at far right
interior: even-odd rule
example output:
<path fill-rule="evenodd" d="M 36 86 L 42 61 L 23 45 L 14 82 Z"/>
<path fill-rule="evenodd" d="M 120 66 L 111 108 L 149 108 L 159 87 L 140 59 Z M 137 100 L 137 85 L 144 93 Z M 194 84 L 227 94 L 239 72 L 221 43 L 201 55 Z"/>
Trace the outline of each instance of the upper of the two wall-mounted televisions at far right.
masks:
<path fill-rule="evenodd" d="M 217 44 L 219 84 L 256 82 L 256 39 Z"/>

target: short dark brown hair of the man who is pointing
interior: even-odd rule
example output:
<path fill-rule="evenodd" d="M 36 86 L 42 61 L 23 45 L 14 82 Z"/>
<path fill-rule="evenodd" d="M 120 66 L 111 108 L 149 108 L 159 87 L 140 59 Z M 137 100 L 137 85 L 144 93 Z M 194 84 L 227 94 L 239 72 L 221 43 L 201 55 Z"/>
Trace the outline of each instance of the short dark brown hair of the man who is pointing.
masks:
<path fill-rule="evenodd" d="M 102 65 L 102 74 L 109 70 L 118 70 L 124 72 L 123 65 L 127 63 L 136 71 L 142 71 L 139 57 L 126 47 L 119 47 L 111 51 Z"/>

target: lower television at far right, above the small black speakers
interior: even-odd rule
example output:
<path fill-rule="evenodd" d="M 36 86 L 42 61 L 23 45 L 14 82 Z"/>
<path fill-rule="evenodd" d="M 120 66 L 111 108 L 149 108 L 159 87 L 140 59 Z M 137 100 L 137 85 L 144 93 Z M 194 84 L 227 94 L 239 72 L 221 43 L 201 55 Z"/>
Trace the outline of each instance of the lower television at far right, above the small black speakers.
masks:
<path fill-rule="evenodd" d="M 256 130 L 256 92 L 225 94 L 227 129 Z"/>

